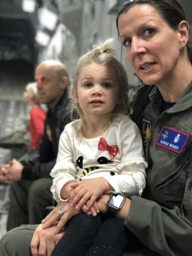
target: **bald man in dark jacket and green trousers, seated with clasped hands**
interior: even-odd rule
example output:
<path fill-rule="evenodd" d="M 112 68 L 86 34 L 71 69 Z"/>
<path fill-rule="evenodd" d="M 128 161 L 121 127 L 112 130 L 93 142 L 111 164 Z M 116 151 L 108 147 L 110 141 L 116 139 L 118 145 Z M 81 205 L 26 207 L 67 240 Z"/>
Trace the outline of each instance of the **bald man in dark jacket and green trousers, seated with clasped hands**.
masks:
<path fill-rule="evenodd" d="M 53 204 L 50 171 L 56 162 L 58 142 L 65 125 L 69 103 L 69 84 L 66 67 L 58 61 L 42 62 L 35 71 L 38 97 L 47 104 L 45 129 L 38 151 L 27 161 L 13 160 L 1 165 L 0 179 L 12 183 L 7 230 L 21 224 L 38 224 L 44 218 L 44 209 Z"/>

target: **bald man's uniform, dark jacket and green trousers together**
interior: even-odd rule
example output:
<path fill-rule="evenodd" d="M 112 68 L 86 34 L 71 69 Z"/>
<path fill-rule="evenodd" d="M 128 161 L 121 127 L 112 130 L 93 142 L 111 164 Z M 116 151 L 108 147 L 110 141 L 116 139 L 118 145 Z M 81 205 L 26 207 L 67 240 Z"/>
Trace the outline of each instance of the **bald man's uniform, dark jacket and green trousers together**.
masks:
<path fill-rule="evenodd" d="M 67 89 L 57 105 L 47 111 L 38 151 L 30 155 L 29 161 L 21 161 L 24 165 L 22 179 L 14 182 L 10 188 L 7 230 L 21 224 L 40 223 L 44 218 L 45 206 L 53 204 L 49 173 L 56 162 L 60 135 L 70 122 L 65 114 L 69 100 Z"/>

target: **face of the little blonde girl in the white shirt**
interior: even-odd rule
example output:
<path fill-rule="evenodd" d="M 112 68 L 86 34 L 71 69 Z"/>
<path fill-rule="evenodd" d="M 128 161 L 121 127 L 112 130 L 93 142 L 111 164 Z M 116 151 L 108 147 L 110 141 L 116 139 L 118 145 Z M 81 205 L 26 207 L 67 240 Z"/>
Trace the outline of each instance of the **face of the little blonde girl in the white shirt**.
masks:
<path fill-rule="evenodd" d="M 118 77 L 113 66 L 88 65 L 82 68 L 74 97 L 85 119 L 90 115 L 108 116 L 113 111 L 119 103 Z"/>

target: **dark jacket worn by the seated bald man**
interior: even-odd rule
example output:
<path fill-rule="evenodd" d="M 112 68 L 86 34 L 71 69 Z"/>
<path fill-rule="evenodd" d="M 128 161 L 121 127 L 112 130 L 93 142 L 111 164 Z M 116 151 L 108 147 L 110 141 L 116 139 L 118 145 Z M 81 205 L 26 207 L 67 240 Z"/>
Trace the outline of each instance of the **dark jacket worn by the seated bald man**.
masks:
<path fill-rule="evenodd" d="M 21 161 L 24 165 L 22 179 L 50 177 L 49 173 L 55 165 L 58 154 L 60 135 L 65 125 L 71 121 L 70 115 L 66 113 L 69 101 L 68 89 L 66 89 L 57 105 L 53 109 L 48 109 L 38 151 L 31 154 L 28 161 Z"/>

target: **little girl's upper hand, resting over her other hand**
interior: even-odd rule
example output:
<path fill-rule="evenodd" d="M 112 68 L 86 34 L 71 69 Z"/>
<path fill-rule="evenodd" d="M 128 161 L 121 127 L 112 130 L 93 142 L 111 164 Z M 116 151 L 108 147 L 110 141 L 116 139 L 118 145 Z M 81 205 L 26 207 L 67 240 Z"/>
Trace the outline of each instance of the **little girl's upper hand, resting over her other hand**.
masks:
<path fill-rule="evenodd" d="M 83 179 L 82 181 L 75 182 L 71 185 L 74 188 L 70 197 L 71 206 L 76 206 L 77 210 L 89 200 L 86 210 L 89 211 L 97 198 L 101 196 L 109 183 L 102 177 L 95 179 Z M 77 205 L 76 205 L 77 204 Z"/>

